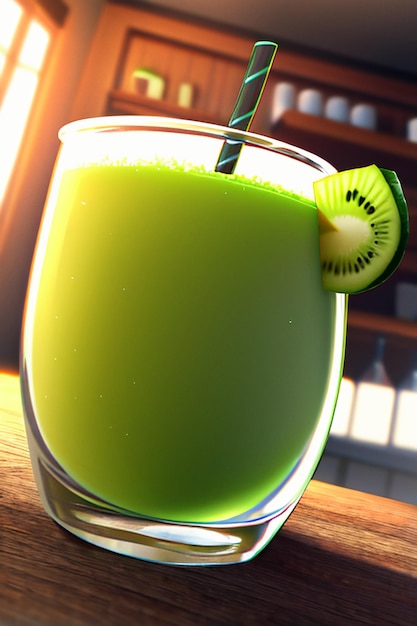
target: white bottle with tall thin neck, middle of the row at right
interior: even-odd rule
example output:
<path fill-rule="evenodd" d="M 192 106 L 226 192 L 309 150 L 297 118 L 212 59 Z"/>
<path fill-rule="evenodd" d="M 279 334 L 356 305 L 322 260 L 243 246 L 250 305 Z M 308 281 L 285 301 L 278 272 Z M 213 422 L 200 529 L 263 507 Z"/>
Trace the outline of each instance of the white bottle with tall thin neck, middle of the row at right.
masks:
<path fill-rule="evenodd" d="M 384 365 L 385 339 L 378 337 L 371 365 L 358 381 L 350 437 L 387 445 L 390 439 L 396 392 Z"/>

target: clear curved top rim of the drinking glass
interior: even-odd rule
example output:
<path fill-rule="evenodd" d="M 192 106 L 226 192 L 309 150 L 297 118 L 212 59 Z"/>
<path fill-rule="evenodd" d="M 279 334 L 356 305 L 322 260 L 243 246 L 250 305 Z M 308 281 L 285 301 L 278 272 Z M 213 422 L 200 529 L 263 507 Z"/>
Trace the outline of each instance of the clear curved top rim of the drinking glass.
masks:
<path fill-rule="evenodd" d="M 304 148 L 281 141 L 280 139 L 253 133 L 251 131 L 237 130 L 230 126 L 222 126 L 221 124 L 175 117 L 153 115 L 107 115 L 89 117 L 75 120 L 62 126 L 58 131 L 58 138 L 63 144 L 68 136 L 81 133 L 116 133 L 121 131 L 161 131 L 200 134 L 223 141 L 237 141 L 247 144 L 248 146 L 264 148 L 271 152 L 276 152 L 300 161 L 326 175 L 337 171 L 326 159 Z"/>

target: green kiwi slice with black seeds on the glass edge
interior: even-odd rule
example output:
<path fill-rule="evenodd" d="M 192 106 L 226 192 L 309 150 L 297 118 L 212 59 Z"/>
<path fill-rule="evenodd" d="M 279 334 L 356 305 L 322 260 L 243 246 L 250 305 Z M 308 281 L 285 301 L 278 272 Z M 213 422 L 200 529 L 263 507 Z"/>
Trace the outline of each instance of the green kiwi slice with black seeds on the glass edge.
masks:
<path fill-rule="evenodd" d="M 407 203 L 395 172 L 376 165 L 314 183 L 323 287 L 360 293 L 400 264 L 409 235 Z"/>

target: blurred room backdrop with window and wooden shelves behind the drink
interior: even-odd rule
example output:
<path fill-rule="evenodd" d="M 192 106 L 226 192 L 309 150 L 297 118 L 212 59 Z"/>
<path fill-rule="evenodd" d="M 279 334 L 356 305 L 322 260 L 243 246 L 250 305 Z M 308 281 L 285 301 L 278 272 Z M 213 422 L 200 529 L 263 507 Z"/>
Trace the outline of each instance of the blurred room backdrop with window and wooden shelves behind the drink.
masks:
<path fill-rule="evenodd" d="M 350 299 L 345 376 L 317 478 L 417 503 L 415 0 L 0 0 L 0 368 L 16 371 L 27 278 L 66 122 L 227 124 L 252 45 L 280 45 L 252 129 L 339 169 L 397 171 L 410 244 Z"/>

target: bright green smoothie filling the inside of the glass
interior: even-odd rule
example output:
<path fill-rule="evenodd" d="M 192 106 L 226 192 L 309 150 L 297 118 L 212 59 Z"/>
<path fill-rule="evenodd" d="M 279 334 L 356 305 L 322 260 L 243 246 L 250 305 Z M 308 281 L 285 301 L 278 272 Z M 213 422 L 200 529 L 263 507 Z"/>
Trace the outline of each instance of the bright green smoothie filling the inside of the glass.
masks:
<path fill-rule="evenodd" d="M 319 419 L 335 294 L 315 206 L 233 176 L 64 173 L 29 315 L 38 427 L 74 481 L 132 512 L 251 509 Z"/>

